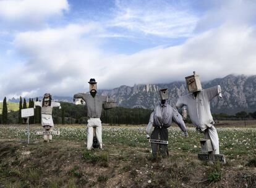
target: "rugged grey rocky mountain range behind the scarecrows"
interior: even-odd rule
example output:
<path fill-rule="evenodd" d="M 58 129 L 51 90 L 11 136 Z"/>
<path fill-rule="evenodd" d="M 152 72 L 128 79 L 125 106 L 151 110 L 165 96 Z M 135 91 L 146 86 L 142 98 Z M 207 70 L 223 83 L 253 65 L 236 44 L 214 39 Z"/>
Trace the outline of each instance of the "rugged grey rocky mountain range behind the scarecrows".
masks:
<path fill-rule="evenodd" d="M 242 110 L 256 111 L 256 75 L 228 75 L 224 78 L 216 78 L 202 82 L 203 89 L 220 84 L 222 99 L 216 97 L 211 101 L 213 113 L 233 114 Z M 185 81 L 174 81 L 168 84 L 135 84 L 134 86 L 120 86 L 114 89 L 99 89 L 101 95 L 108 95 L 116 100 L 117 105 L 127 108 L 151 108 L 160 102 L 159 89 L 168 88 L 171 104 L 175 104 L 179 96 L 187 94 Z M 72 102 L 72 97 L 53 96 L 54 100 Z M 19 102 L 19 99 L 11 99 L 11 102 Z"/>

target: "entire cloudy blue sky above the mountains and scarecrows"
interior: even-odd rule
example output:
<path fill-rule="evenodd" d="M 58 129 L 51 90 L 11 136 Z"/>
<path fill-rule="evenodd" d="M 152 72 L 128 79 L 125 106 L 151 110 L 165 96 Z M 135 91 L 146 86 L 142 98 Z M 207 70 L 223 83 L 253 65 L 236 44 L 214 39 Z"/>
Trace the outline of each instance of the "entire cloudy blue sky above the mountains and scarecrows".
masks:
<path fill-rule="evenodd" d="M 0 100 L 256 74 L 253 0 L 0 0 Z"/>

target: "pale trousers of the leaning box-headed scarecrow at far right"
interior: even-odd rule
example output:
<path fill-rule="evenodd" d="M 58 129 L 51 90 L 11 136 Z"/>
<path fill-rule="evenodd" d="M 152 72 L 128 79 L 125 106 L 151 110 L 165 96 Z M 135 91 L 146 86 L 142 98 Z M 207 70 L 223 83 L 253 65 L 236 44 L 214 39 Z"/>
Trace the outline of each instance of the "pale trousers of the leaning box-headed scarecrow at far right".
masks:
<path fill-rule="evenodd" d="M 205 138 L 211 140 L 211 145 L 213 145 L 214 154 L 220 154 L 219 137 L 214 126 L 205 129 Z"/>

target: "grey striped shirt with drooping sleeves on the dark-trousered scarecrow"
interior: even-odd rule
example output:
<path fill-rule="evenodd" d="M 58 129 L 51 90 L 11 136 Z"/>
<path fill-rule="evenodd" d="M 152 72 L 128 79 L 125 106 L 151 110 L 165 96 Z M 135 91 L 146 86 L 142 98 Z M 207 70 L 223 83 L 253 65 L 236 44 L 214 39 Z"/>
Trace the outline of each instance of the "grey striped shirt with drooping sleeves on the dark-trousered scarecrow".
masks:
<path fill-rule="evenodd" d="M 171 126 L 172 120 L 177 123 L 179 128 L 185 133 L 187 131 L 186 125 L 182 120 L 182 116 L 167 102 L 158 104 L 155 110 L 150 115 L 150 121 L 147 126 L 147 134 L 150 134 L 152 126 L 161 128 L 168 128 Z"/>

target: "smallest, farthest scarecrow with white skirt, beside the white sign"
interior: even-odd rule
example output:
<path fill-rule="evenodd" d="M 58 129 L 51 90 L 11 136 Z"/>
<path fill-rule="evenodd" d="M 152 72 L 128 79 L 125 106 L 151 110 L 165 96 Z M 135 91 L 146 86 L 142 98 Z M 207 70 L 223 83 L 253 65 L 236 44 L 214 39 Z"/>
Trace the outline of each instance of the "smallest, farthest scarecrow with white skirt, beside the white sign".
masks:
<path fill-rule="evenodd" d="M 44 131 L 53 131 L 53 107 L 59 107 L 61 109 L 61 104 L 59 102 L 54 102 L 51 99 L 51 94 L 46 93 L 43 96 L 43 101 L 36 101 L 34 108 L 36 106 L 41 107 L 41 125 L 43 126 Z M 53 139 L 52 135 L 44 135 L 44 141 L 51 141 Z"/>

